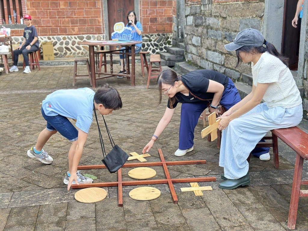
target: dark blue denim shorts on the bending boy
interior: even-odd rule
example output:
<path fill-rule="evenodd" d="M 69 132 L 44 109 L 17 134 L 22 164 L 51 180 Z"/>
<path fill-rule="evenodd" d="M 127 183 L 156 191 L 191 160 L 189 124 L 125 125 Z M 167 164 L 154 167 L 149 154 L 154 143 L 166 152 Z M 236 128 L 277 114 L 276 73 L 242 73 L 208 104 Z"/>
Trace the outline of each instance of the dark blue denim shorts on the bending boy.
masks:
<path fill-rule="evenodd" d="M 44 119 L 47 121 L 48 131 L 58 131 L 62 136 L 69 141 L 78 139 L 78 131 L 74 125 L 63 115 L 48 116 L 45 115 L 43 107 L 41 109 Z"/>

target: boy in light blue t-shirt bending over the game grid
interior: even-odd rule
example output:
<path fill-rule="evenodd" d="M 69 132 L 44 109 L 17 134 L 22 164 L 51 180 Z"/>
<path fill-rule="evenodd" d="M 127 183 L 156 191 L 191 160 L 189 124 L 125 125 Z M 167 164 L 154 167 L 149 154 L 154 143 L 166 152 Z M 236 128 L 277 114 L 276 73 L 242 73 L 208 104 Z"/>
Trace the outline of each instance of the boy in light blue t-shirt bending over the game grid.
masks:
<path fill-rule="evenodd" d="M 95 108 L 94 108 L 95 107 Z M 88 184 L 93 180 L 81 175 L 77 171 L 84 144 L 87 140 L 89 128 L 93 121 L 93 110 L 98 110 L 101 115 L 111 114 L 113 110 L 122 108 L 122 100 L 119 92 L 105 84 L 96 93 L 90 88 L 58 90 L 42 102 L 42 115 L 47 121 L 46 128 L 39 134 L 34 147 L 28 150 L 30 158 L 39 160 L 44 164 L 51 164 L 52 157 L 43 150 L 43 146 L 49 138 L 59 132 L 72 142 L 68 152 L 69 171 L 63 180 L 67 184 L 67 190 L 71 184 Z M 76 121 L 76 127 L 67 119 Z"/>

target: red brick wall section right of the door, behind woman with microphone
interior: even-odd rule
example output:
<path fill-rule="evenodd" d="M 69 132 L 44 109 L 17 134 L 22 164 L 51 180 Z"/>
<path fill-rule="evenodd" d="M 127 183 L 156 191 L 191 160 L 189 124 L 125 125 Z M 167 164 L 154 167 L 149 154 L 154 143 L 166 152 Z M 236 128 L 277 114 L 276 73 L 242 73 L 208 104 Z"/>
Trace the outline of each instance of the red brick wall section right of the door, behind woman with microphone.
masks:
<path fill-rule="evenodd" d="M 140 15 L 144 33 L 172 33 L 176 0 L 140 0 Z"/>

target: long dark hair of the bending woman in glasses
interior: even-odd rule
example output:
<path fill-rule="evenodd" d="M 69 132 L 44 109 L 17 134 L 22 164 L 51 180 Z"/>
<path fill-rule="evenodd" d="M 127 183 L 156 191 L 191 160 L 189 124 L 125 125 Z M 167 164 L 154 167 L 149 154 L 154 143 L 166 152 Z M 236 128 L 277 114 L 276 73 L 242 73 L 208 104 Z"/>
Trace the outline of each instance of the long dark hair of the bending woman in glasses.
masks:
<path fill-rule="evenodd" d="M 181 80 L 180 75 L 176 74 L 175 71 L 167 69 L 167 70 L 160 72 L 160 74 L 158 75 L 158 79 L 157 79 L 157 85 L 159 88 L 159 103 L 158 104 L 161 103 L 161 93 L 162 93 L 161 84 L 165 83 L 165 84 L 173 86 L 176 81 L 180 81 L 180 80 Z M 173 104 L 176 102 L 176 100 L 177 98 L 175 95 L 172 98 L 170 97 L 169 106 L 171 109 L 173 109 Z"/>

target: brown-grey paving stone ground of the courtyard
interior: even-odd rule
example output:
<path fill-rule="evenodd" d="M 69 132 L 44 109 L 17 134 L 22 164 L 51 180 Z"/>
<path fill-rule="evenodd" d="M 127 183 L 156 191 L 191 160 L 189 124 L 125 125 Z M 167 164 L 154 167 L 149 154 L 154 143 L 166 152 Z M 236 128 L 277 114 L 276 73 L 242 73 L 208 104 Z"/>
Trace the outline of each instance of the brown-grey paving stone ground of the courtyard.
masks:
<path fill-rule="evenodd" d="M 79 67 L 80 72 L 85 70 L 85 66 Z M 115 71 L 119 71 L 119 66 L 115 66 Z M 93 204 L 75 201 L 78 189 L 67 192 L 63 184 L 70 142 L 59 134 L 51 137 L 44 147 L 54 158 L 50 165 L 26 155 L 46 126 L 40 113 L 40 103 L 46 95 L 58 89 L 90 86 L 87 79 L 82 79 L 72 87 L 72 75 L 72 66 L 41 67 L 41 71 L 27 75 L 22 71 L 0 75 L 0 230 L 288 230 L 295 152 L 279 142 L 279 169 L 274 168 L 272 159 L 261 161 L 252 157 L 251 184 L 236 190 L 221 190 L 218 184 L 223 168 L 218 166 L 219 149 L 216 141 L 201 139 L 201 120 L 195 129 L 193 152 L 181 157 L 173 155 L 178 148 L 180 105 L 147 160 L 159 161 L 158 148 L 167 161 L 207 160 L 206 164 L 169 166 L 169 172 L 172 178 L 214 176 L 217 181 L 200 182 L 200 186 L 212 186 L 213 191 L 195 197 L 192 192 L 180 192 L 189 183 L 174 184 L 179 200 L 174 204 L 166 184 L 152 185 L 162 193 L 152 201 L 131 199 L 129 191 L 138 186 L 124 186 L 124 206 L 118 207 L 117 188 L 106 187 L 108 194 L 103 201 Z M 165 111 L 166 97 L 157 105 L 156 79 L 151 80 L 149 90 L 146 82 L 137 65 L 135 88 L 130 81 L 116 77 L 97 83 L 98 86 L 109 83 L 120 92 L 123 108 L 106 116 L 106 120 L 115 142 L 126 152 L 141 153 Z M 102 123 L 102 118 L 99 121 Z M 307 121 L 303 120 L 299 126 L 307 132 Z M 106 132 L 103 136 L 107 144 Z M 110 147 L 107 144 L 107 149 Z M 93 123 L 80 164 L 102 164 L 101 159 L 98 130 Z M 303 180 L 308 180 L 307 166 L 305 163 Z M 162 167 L 153 168 L 157 172 L 153 179 L 165 178 Z M 127 175 L 130 169 L 123 169 L 123 180 L 132 180 Z M 117 180 L 117 174 L 106 169 L 83 173 L 97 176 L 99 180 L 95 182 Z M 307 197 L 299 199 L 296 230 L 308 230 Z"/>

